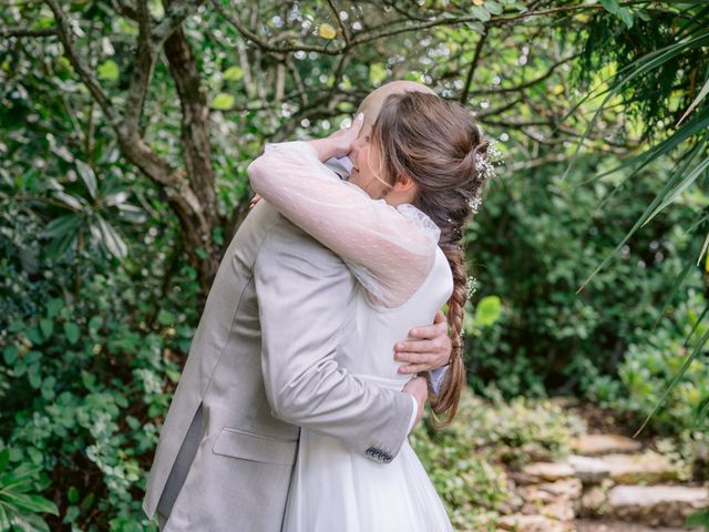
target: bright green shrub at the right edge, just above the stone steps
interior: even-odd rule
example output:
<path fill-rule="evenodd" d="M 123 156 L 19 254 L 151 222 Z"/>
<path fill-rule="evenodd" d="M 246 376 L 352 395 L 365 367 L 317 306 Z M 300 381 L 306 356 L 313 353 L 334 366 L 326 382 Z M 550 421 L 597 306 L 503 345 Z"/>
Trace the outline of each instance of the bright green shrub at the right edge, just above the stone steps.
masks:
<path fill-rule="evenodd" d="M 630 415 L 636 428 L 649 418 L 646 430 L 665 438 L 659 446 L 680 466 L 687 480 L 709 479 L 709 418 L 700 410 L 709 400 L 709 356 L 700 350 L 681 380 L 669 389 L 709 325 L 702 319 L 703 296 L 690 294 L 650 335 L 628 346 L 617 377 L 585 377 L 586 392 L 599 406 Z"/>

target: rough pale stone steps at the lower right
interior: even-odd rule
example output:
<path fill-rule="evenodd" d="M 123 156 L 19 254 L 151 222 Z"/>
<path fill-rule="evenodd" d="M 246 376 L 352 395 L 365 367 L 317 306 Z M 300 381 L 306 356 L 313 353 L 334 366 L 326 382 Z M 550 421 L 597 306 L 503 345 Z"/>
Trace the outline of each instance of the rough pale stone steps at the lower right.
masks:
<path fill-rule="evenodd" d="M 709 487 L 679 484 L 674 464 L 635 440 L 589 434 L 574 441 L 573 452 L 511 473 L 521 502 L 501 530 L 675 532 L 709 508 Z"/>

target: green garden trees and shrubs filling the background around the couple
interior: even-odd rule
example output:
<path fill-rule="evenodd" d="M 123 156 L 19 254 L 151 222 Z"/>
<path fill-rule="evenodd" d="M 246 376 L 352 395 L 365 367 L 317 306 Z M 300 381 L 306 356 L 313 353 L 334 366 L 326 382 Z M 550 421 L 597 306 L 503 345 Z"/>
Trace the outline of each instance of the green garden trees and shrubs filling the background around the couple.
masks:
<path fill-rule="evenodd" d="M 507 497 L 471 449 L 561 446 L 551 410 L 530 429 L 554 396 L 630 432 L 654 412 L 707 480 L 708 28 L 705 2 L 3 0 L 0 530 L 155 530 L 146 471 L 246 166 L 394 79 L 503 154 L 465 234 L 475 398 L 418 436 L 456 522 Z"/>

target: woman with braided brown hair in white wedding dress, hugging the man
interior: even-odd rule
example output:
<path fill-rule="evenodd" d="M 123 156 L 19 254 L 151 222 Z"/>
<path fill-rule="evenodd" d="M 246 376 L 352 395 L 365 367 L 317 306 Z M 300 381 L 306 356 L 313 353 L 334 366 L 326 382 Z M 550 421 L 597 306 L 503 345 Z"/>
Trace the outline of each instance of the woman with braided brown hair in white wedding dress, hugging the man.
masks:
<path fill-rule="evenodd" d="M 265 201 L 337 253 L 359 282 L 354 326 L 343 342 L 352 349 L 337 354 L 348 371 L 400 390 L 409 377 L 390 356 L 354 354 L 390 352 L 448 304 L 453 354 L 431 405 L 449 422 L 465 386 L 461 236 L 490 175 L 487 142 L 464 108 L 435 94 L 393 92 L 368 109 L 373 95 L 360 106 L 370 123 L 360 113 L 351 127 L 326 139 L 267 143 L 248 174 Z M 345 154 L 353 165 L 349 182 L 322 164 Z M 411 447 L 383 454 L 304 429 L 282 530 L 452 530 Z"/>

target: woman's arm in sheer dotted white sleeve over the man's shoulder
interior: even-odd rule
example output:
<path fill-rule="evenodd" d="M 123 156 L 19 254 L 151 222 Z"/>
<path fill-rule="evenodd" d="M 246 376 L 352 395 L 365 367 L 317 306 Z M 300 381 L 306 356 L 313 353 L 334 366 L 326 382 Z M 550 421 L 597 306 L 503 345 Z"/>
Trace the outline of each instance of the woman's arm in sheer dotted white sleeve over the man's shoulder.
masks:
<path fill-rule="evenodd" d="M 434 258 L 438 235 L 382 201 L 340 181 L 308 142 L 267 143 L 248 166 L 251 186 L 347 262 L 363 266 L 364 286 L 388 306 L 405 301 Z"/>

